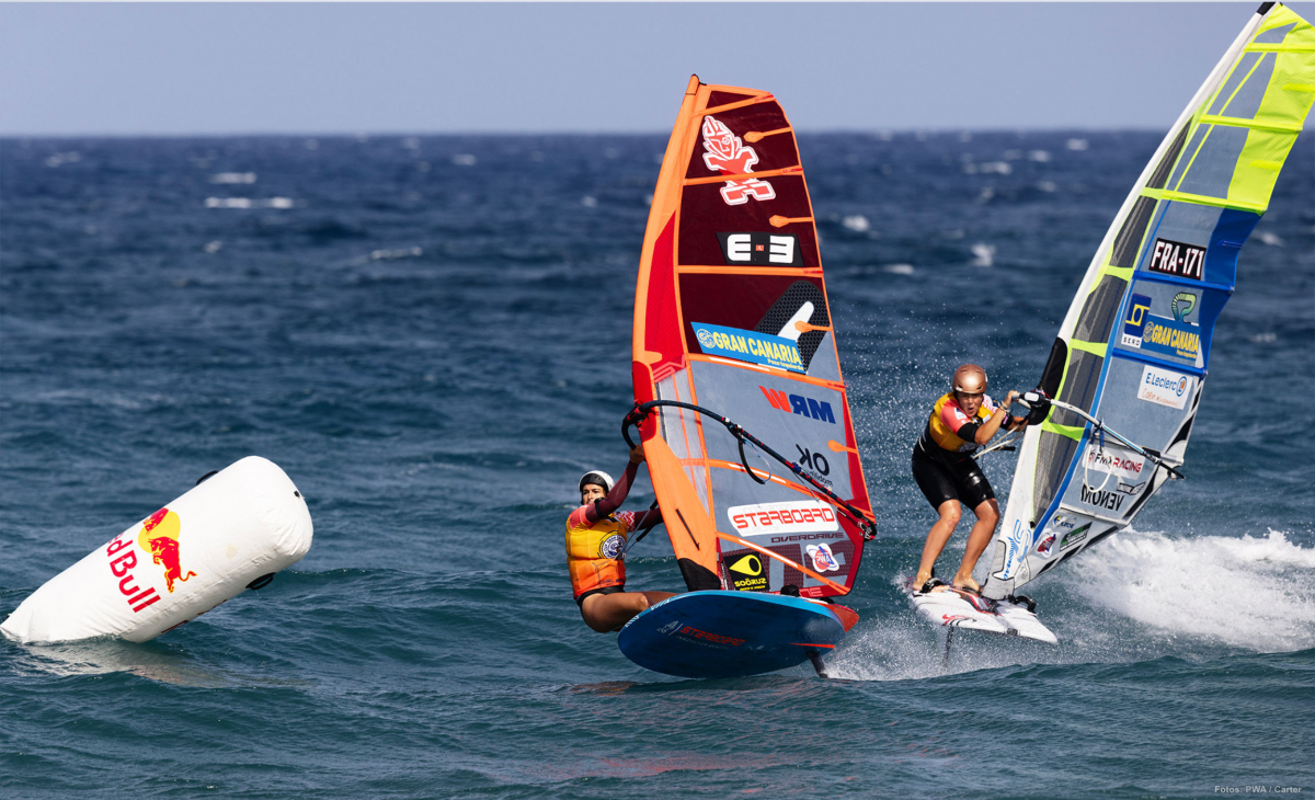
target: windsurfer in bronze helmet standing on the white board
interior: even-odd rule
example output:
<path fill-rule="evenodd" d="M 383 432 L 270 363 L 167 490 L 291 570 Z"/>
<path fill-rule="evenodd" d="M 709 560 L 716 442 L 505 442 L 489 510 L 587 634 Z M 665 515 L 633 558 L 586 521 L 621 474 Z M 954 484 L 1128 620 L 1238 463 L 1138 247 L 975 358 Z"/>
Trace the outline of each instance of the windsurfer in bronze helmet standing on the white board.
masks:
<path fill-rule="evenodd" d="M 936 558 L 959 525 L 961 503 L 967 503 L 977 522 L 968 534 L 964 561 L 955 574 L 953 587 L 978 591 L 973 580 L 973 567 L 990 543 L 999 522 L 999 504 L 995 492 L 973 458 L 977 447 L 985 445 L 1002 428 L 1020 430 L 1027 417 L 1014 417 L 1009 407 L 1019 392 L 1009 392 L 1005 405 L 997 407 L 986 395 L 986 371 L 977 364 L 963 364 L 955 371 L 951 391 L 936 400 L 931 417 L 918 443 L 913 449 L 913 476 L 940 518 L 931 526 L 922 549 L 922 563 L 914 578 L 914 588 L 922 592 L 944 591 L 945 584 L 932 578 Z"/>

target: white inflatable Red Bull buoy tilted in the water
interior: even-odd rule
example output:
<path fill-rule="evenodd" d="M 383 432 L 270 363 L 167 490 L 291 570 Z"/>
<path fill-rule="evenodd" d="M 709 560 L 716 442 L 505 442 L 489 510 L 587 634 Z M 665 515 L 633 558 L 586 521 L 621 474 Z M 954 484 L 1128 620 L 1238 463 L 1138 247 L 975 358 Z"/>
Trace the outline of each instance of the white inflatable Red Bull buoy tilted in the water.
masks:
<path fill-rule="evenodd" d="M 47 580 L 0 625 L 20 642 L 145 642 L 310 550 L 310 512 L 274 462 L 251 455 Z"/>

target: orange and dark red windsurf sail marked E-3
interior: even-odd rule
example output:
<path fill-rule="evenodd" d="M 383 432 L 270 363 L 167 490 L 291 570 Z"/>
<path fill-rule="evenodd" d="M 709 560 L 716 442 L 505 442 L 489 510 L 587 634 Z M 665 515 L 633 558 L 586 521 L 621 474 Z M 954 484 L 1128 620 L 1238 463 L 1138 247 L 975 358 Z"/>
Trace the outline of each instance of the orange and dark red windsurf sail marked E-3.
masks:
<path fill-rule="evenodd" d="M 798 147 L 767 92 L 690 79 L 644 236 L 633 371 L 638 403 L 730 417 L 871 514 Z M 689 588 L 848 591 L 853 521 L 705 422 L 664 407 L 640 428 Z"/>

